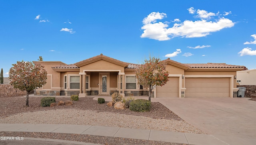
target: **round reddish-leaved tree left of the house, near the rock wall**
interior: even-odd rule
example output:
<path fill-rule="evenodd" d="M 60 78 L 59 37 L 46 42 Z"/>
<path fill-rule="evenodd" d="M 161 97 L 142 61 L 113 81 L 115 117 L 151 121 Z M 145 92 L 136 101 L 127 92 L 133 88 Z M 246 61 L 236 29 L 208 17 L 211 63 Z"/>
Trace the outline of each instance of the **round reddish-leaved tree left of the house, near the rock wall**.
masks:
<path fill-rule="evenodd" d="M 27 92 L 26 106 L 29 106 L 28 94 L 35 88 L 46 84 L 47 72 L 40 63 L 17 61 L 9 71 L 9 79 L 14 88 Z"/>

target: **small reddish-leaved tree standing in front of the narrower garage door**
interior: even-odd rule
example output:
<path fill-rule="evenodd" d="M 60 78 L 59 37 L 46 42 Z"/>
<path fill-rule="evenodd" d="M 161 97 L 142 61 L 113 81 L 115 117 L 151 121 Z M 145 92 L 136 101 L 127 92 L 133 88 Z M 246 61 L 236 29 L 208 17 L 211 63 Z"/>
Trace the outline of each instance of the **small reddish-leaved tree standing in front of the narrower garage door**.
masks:
<path fill-rule="evenodd" d="M 168 71 L 166 71 L 166 64 L 158 58 L 150 57 L 145 60 L 145 63 L 136 68 L 135 74 L 138 84 L 148 88 L 148 100 L 151 101 L 152 90 L 156 86 L 163 86 L 168 81 Z"/>

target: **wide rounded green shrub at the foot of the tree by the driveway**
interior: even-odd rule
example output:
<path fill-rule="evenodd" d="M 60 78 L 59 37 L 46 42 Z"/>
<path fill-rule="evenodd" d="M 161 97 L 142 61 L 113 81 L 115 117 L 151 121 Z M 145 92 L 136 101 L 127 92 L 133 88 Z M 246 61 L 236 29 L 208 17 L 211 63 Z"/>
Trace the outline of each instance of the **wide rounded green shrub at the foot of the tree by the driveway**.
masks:
<path fill-rule="evenodd" d="M 129 109 L 131 111 L 136 111 L 136 112 L 150 111 L 150 108 L 151 108 L 151 102 L 145 99 L 134 100 L 130 102 L 130 106 L 129 106 Z"/>

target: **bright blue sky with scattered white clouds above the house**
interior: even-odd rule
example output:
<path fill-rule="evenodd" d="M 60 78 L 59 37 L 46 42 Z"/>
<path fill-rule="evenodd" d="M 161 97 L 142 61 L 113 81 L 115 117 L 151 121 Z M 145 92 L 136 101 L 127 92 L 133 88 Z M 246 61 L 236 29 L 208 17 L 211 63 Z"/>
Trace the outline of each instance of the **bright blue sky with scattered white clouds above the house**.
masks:
<path fill-rule="evenodd" d="M 256 69 L 256 1 L 2 0 L 0 68 L 73 64 L 96 55 L 128 63 L 168 57 Z"/>

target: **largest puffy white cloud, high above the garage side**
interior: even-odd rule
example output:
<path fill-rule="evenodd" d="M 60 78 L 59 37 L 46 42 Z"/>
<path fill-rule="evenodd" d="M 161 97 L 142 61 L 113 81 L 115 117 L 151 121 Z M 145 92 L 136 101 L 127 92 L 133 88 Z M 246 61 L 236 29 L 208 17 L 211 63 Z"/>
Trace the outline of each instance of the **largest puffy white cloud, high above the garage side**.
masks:
<path fill-rule="evenodd" d="M 191 10 L 189 10 L 190 13 L 192 12 Z M 200 16 L 200 18 L 210 18 L 210 16 L 215 16 L 214 13 L 208 13 L 204 10 L 198 10 L 197 12 L 200 14 L 197 15 Z M 181 23 L 175 23 L 173 27 L 168 28 L 168 23 L 156 22 L 156 20 L 162 20 L 166 16 L 167 15 L 165 13 L 150 13 L 146 18 L 143 19 L 144 25 L 141 27 L 141 29 L 144 31 L 140 37 L 156 39 L 159 41 L 169 40 L 173 37 L 204 37 L 209 35 L 210 32 L 216 32 L 224 28 L 233 27 L 235 24 L 227 18 L 218 18 L 214 22 L 201 19 L 194 22 L 191 20 L 185 20 Z"/>

